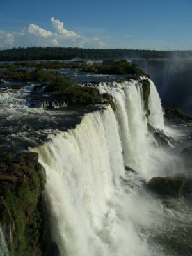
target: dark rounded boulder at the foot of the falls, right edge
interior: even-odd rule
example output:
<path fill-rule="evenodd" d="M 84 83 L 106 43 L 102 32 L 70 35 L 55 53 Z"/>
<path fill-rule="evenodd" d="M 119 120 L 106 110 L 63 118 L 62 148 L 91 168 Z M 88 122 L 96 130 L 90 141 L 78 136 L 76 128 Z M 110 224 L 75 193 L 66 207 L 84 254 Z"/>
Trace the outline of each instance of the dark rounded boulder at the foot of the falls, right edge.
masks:
<path fill-rule="evenodd" d="M 192 195 L 192 177 L 154 177 L 148 182 L 148 188 L 162 196 L 189 196 Z"/>

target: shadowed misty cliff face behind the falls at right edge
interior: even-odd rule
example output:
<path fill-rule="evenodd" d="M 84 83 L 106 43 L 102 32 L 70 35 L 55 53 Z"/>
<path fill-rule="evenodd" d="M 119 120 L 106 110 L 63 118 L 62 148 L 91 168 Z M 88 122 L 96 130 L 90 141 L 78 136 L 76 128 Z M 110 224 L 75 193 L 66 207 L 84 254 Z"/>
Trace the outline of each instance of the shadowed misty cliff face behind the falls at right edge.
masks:
<path fill-rule="evenodd" d="M 189 61 L 133 60 L 157 86 L 163 106 L 191 114 L 192 65 Z"/>

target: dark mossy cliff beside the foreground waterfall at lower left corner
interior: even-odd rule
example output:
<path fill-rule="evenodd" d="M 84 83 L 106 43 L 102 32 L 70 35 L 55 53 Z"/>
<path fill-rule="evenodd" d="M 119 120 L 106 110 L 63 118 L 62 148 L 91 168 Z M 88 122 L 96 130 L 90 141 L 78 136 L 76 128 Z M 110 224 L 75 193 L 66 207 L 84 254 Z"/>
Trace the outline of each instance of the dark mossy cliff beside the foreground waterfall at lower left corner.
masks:
<path fill-rule="evenodd" d="M 10 255 L 41 255 L 45 175 L 38 154 L 1 155 L 0 222 Z"/>

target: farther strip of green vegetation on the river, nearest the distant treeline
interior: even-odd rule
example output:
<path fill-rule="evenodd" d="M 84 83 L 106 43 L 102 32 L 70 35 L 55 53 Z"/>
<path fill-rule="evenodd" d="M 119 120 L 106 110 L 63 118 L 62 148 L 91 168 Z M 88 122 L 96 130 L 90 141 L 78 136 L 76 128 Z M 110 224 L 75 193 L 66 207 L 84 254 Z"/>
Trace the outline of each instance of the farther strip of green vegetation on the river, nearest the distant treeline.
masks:
<path fill-rule="evenodd" d="M 5 72 L 0 73 L 0 77 L 10 77 L 14 81 L 46 81 L 56 73 L 49 71 L 49 73 L 42 72 L 44 70 L 55 70 L 61 68 L 79 68 L 83 72 L 95 72 L 98 74 L 115 74 L 115 75 L 131 75 L 143 76 L 145 73 L 138 68 L 137 65 L 127 62 L 127 60 L 120 61 L 104 61 L 101 65 L 88 65 L 84 61 L 74 62 L 60 62 L 60 61 L 29 61 L 29 62 L 15 62 L 12 65 L 3 63 L 1 68 L 6 68 Z M 30 70 L 32 68 L 32 70 Z M 34 70 L 35 69 L 35 70 Z"/>

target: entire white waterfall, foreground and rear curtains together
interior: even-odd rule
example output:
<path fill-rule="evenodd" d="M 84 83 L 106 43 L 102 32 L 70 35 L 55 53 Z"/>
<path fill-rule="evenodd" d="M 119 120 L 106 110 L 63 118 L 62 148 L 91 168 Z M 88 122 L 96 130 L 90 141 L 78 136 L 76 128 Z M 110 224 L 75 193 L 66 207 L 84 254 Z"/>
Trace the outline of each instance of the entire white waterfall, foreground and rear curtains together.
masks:
<path fill-rule="evenodd" d="M 150 122 L 163 129 L 161 101 L 150 84 Z M 74 129 L 51 134 L 49 142 L 33 148 L 46 170 L 52 239 L 61 256 L 153 255 L 140 225 L 150 223 L 150 213 L 161 209 L 141 200 L 139 191 L 127 191 L 132 176 L 124 168 L 149 179 L 159 170 L 159 157 L 164 158 L 160 149 L 154 154 L 142 86 L 132 80 L 100 83 L 99 88 L 113 96 L 116 113 L 111 106 L 88 113 Z"/>

